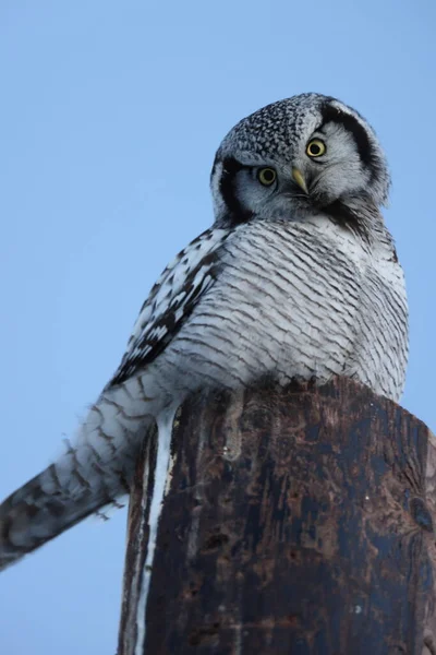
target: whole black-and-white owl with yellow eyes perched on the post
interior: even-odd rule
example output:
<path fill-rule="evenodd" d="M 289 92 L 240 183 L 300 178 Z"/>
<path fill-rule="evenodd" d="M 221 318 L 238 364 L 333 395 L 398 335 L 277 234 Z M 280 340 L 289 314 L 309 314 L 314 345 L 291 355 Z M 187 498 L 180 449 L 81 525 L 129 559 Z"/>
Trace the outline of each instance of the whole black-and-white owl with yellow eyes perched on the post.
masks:
<path fill-rule="evenodd" d="M 362 116 L 314 93 L 268 105 L 227 134 L 210 187 L 213 226 L 152 288 L 71 448 L 0 505 L 0 568 L 129 492 L 153 422 L 156 533 L 172 419 L 198 389 L 339 374 L 400 397 L 407 295 L 380 213 L 387 164 Z"/>

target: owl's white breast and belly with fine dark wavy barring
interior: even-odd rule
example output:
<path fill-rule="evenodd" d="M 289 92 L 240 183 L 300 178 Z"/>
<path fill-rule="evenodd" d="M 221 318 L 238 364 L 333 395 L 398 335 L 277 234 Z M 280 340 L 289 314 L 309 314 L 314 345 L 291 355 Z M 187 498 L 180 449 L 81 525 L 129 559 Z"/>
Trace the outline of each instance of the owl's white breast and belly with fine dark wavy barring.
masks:
<path fill-rule="evenodd" d="M 398 400 L 404 312 L 401 269 L 377 263 L 355 235 L 328 221 L 252 222 L 226 241 L 215 284 L 159 358 L 159 380 L 182 392 L 344 374 Z"/>

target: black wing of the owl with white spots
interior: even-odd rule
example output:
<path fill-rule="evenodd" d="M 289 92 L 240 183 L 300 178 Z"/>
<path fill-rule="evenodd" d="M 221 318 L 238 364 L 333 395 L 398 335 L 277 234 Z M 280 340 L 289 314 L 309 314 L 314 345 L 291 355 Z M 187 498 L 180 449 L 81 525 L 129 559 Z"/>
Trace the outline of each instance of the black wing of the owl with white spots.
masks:
<path fill-rule="evenodd" d="M 171 342 L 198 298 L 214 284 L 218 250 L 230 230 L 210 228 L 165 269 L 141 308 L 126 352 L 107 389 L 150 364 Z"/>

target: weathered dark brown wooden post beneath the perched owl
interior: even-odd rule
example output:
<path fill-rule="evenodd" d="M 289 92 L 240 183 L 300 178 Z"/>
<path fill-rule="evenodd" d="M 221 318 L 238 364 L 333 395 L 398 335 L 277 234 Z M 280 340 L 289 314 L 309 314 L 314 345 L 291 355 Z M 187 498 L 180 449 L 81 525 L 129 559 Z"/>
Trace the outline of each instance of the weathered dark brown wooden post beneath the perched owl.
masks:
<path fill-rule="evenodd" d="M 436 440 L 350 380 L 189 400 L 152 565 L 131 497 L 118 655 L 435 655 Z M 146 588 L 145 588 L 146 587 Z"/>

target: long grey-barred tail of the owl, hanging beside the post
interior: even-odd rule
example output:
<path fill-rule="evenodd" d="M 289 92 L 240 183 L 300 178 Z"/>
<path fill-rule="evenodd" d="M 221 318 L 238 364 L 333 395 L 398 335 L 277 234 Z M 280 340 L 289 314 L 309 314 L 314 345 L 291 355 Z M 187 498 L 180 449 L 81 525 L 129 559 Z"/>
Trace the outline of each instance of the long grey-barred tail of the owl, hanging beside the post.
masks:
<path fill-rule="evenodd" d="M 129 492 L 152 417 L 122 386 L 105 391 L 74 445 L 0 504 L 0 571 Z"/>

